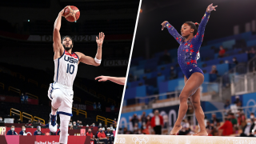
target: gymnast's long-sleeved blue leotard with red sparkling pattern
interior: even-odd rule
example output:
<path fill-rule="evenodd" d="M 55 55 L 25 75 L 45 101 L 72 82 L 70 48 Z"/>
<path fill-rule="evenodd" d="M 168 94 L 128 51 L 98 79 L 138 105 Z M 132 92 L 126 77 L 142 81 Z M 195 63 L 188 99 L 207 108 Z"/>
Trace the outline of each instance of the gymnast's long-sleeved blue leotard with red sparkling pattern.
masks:
<path fill-rule="evenodd" d="M 185 38 L 178 34 L 178 31 L 175 30 L 174 26 L 171 26 L 169 22 L 166 22 L 166 27 L 169 33 L 180 44 L 178 47 L 178 64 L 181 66 L 182 72 L 185 74 L 187 79 L 189 79 L 191 74 L 194 72 L 203 74 L 202 70 L 197 65 L 197 60 L 200 57 L 199 48 L 202 44 L 206 23 L 208 22 L 209 18 L 210 13 L 206 12 L 206 14 L 202 17 L 202 21 L 198 27 L 198 33 L 194 35 L 194 38 L 186 42 Z"/>

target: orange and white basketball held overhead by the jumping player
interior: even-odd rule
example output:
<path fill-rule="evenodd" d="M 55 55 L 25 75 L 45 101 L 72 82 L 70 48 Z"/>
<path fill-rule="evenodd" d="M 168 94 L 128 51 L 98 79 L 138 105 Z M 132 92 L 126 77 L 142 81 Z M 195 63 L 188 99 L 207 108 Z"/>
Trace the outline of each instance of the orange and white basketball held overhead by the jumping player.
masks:
<path fill-rule="evenodd" d="M 64 17 L 69 22 L 75 22 L 80 17 L 80 11 L 76 6 L 67 6 L 64 10 Z"/>

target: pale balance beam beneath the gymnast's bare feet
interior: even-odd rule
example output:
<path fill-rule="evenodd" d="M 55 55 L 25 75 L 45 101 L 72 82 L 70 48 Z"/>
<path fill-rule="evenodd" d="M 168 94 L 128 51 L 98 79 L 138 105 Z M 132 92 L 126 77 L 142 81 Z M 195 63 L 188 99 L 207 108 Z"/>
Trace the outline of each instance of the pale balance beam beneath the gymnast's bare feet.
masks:
<path fill-rule="evenodd" d="M 256 144 L 255 137 L 117 134 L 114 144 Z"/>

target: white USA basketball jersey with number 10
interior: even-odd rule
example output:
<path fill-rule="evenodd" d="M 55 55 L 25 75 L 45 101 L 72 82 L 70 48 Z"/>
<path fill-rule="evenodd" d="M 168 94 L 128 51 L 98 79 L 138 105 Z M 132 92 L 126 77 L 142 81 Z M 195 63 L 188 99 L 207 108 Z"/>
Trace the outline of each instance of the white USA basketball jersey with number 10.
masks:
<path fill-rule="evenodd" d="M 60 58 L 54 59 L 54 82 L 64 86 L 73 86 L 74 78 L 78 72 L 78 55 L 75 53 L 64 53 Z"/>

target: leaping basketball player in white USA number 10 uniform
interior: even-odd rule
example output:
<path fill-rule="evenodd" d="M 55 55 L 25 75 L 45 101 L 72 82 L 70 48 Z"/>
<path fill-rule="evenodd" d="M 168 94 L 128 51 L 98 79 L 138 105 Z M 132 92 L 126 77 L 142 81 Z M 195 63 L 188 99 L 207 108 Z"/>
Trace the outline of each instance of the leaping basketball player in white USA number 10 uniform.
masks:
<path fill-rule="evenodd" d="M 65 8 L 64 8 L 65 9 Z M 80 52 L 72 52 L 74 42 L 69 36 L 61 39 L 59 30 L 61 28 L 64 9 L 58 14 L 54 22 L 54 83 L 50 84 L 48 97 L 51 100 L 50 126 L 51 132 L 57 131 L 57 114 L 60 117 L 61 135 L 59 143 L 66 144 L 68 137 L 68 126 L 72 116 L 72 102 L 74 97 L 73 82 L 78 71 L 79 62 L 87 65 L 99 66 L 102 59 L 102 43 L 104 33 L 96 37 L 98 51 L 95 58 L 91 58 Z M 58 112 L 57 112 L 58 110 Z"/>

